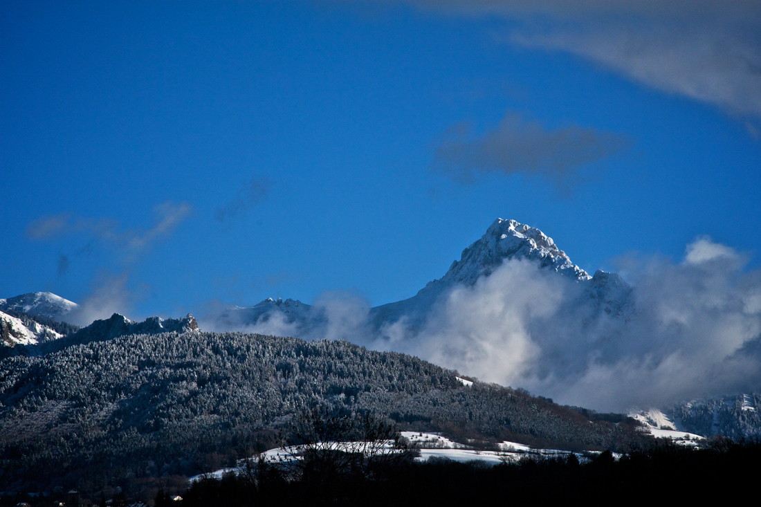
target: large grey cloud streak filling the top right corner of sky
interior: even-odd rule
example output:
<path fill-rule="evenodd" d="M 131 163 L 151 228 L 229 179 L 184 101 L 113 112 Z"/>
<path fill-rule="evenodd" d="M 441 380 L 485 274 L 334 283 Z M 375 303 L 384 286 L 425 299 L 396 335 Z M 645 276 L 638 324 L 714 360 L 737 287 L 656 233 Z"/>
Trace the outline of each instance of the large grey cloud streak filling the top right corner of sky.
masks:
<path fill-rule="evenodd" d="M 511 21 L 511 43 L 565 51 L 668 93 L 761 119 L 756 0 L 410 0 Z M 755 127 L 754 127 L 755 128 Z"/>

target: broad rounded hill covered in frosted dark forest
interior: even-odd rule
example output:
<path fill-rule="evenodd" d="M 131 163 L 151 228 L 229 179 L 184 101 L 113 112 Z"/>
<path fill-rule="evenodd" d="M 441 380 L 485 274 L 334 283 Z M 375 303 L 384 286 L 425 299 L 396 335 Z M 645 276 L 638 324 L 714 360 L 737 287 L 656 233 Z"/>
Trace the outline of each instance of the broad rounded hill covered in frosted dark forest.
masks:
<path fill-rule="evenodd" d="M 560 448 L 619 448 L 626 425 L 346 342 L 241 333 L 136 334 L 0 362 L 5 489 L 129 489 L 197 474 L 274 442 L 313 407 L 402 428 Z M 248 446 L 248 448 L 247 448 Z"/>

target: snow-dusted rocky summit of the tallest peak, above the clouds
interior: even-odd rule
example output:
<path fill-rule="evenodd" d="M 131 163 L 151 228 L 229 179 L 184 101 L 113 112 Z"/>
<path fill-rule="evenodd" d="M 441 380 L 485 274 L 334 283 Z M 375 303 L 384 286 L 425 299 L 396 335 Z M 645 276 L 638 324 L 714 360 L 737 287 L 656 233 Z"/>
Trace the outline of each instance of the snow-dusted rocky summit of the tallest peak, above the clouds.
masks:
<path fill-rule="evenodd" d="M 479 276 L 488 276 L 505 259 L 521 258 L 539 261 L 542 267 L 575 279 L 591 278 L 539 229 L 515 220 L 497 218 L 479 241 L 463 250 L 460 260 L 452 263 L 441 280 L 473 285 Z"/>

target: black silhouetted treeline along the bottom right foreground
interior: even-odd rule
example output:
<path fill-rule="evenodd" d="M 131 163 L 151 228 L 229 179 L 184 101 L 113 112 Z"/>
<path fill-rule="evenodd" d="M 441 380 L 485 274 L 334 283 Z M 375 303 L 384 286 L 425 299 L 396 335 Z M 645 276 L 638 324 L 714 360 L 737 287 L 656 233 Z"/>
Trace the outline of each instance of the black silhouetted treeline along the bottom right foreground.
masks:
<path fill-rule="evenodd" d="M 712 489 L 715 499 L 747 498 L 761 460 L 759 442 L 717 439 L 705 449 L 652 445 L 616 461 L 609 451 L 580 460 L 524 458 L 495 467 L 449 460 L 408 461 L 374 480 L 344 480 L 332 487 L 286 481 L 272 470 L 251 480 L 228 474 L 205 479 L 183 493 L 183 507 L 228 505 L 529 505 L 578 501 L 584 505 L 693 502 Z M 158 504 L 157 504 L 158 505 Z"/>

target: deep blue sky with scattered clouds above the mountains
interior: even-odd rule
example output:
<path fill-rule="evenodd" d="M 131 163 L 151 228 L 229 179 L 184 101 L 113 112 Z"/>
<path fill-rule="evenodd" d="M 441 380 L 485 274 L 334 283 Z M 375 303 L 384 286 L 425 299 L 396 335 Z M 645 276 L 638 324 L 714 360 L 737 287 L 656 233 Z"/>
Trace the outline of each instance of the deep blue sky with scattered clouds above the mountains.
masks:
<path fill-rule="evenodd" d="M 2 2 L 0 297 L 380 305 L 495 218 L 761 252 L 759 2 Z"/>

